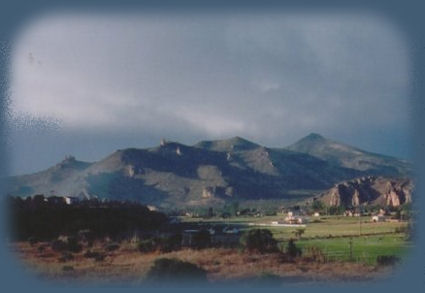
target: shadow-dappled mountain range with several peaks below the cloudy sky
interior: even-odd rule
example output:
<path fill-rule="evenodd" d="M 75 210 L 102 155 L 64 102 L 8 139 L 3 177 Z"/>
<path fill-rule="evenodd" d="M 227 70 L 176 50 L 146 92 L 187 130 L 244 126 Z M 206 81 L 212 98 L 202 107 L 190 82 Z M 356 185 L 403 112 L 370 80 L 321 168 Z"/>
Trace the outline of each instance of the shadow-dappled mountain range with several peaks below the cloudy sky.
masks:
<path fill-rule="evenodd" d="M 193 146 L 117 150 L 87 163 L 68 157 L 37 173 L 9 179 L 8 193 L 136 200 L 162 207 L 226 200 L 287 199 L 293 191 L 323 191 L 362 176 L 407 177 L 410 164 L 310 134 L 287 148 L 240 137 Z"/>

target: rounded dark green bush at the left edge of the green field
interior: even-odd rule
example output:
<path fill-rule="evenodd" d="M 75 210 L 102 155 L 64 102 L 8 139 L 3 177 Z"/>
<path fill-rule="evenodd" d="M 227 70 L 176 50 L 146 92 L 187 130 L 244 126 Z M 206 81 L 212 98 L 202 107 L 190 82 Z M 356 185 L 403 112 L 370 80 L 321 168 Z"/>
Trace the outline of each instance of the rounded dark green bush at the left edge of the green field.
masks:
<path fill-rule="evenodd" d="M 249 251 L 255 250 L 260 253 L 278 251 L 277 241 L 268 229 L 249 230 L 242 235 L 241 243 Z"/>

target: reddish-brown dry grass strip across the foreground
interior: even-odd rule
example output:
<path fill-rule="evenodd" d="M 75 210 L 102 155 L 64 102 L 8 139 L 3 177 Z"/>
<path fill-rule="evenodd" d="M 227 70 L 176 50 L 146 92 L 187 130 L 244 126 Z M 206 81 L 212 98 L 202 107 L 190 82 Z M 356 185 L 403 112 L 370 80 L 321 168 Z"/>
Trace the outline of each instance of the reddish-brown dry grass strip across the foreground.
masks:
<path fill-rule="evenodd" d="M 46 248 L 40 252 L 40 246 Z M 31 246 L 22 242 L 12 245 L 25 266 L 43 278 L 53 280 L 138 283 L 158 257 L 177 258 L 197 264 L 207 271 L 208 279 L 212 282 L 244 280 L 264 273 L 283 278 L 302 277 L 308 281 L 368 280 L 379 278 L 386 272 L 375 266 L 348 262 L 316 263 L 306 259 L 288 262 L 279 254 L 245 253 L 237 249 L 183 249 L 171 253 L 142 254 L 131 243 L 121 243 L 120 248 L 112 252 L 105 252 L 103 247 L 104 244 L 95 243 L 91 248 L 91 251 L 106 254 L 103 261 L 84 257 L 87 251 L 85 248 L 74 254 L 74 259 L 60 262 L 62 254 L 51 250 L 46 243 Z"/>

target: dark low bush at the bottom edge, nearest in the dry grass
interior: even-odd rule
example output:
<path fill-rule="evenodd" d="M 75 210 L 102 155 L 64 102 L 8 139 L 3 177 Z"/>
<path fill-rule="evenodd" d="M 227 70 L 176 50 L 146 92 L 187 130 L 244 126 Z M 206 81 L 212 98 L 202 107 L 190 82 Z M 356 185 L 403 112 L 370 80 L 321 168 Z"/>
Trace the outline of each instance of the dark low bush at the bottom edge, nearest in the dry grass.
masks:
<path fill-rule="evenodd" d="M 155 260 L 147 272 L 146 280 L 155 283 L 205 282 L 206 276 L 206 271 L 195 264 L 178 259 L 160 258 Z"/>

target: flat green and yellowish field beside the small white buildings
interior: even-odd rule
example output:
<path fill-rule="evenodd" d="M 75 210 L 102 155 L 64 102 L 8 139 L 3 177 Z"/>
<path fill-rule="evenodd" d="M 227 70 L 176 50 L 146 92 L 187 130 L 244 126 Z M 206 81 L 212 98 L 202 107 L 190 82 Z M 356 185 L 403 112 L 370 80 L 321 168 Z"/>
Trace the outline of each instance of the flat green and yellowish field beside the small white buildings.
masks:
<path fill-rule="evenodd" d="M 248 226 L 248 223 L 270 223 L 282 220 L 282 216 L 234 217 L 230 219 L 196 219 L 184 217 L 187 223 L 240 225 L 242 230 L 263 228 L 272 231 L 284 249 L 290 238 L 296 239 L 296 227 Z M 323 216 L 311 217 L 303 228 L 304 233 L 296 245 L 307 253 L 309 248 L 319 248 L 328 260 L 356 261 L 375 264 L 377 256 L 394 255 L 402 258 L 412 245 L 406 240 L 407 222 L 372 223 L 370 217 Z M 316 221 L 316 222 L 314 222 Z M 351 253 L 350 253 L 351 241 Z"/>

